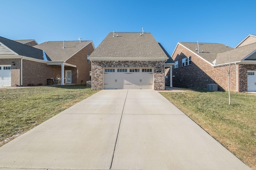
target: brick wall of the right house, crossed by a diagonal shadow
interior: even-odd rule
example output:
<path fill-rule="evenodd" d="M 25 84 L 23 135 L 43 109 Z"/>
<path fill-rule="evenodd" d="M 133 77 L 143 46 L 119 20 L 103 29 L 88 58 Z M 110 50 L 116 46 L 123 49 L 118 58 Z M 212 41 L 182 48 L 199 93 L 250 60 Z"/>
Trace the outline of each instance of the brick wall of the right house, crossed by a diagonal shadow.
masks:
<path fill-rule="evenodd" d="M 182 67 L 182 59 L 190 56 L 191 64 Z M 172 68 L 173 86 L 207 88 L 207 84 L 218 84 L 218 90 L 228 90 L 227 74 L 222 72 L 224 66 L 214 68 L 179 44 L 172 59 L 178 61 L 178 68 Z M 232 65 L 231 70 L 234 71 L 230 74 L 230 90 L 236 91 L 236 65 Z"/>

